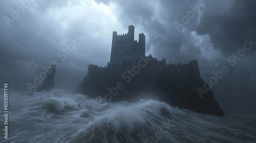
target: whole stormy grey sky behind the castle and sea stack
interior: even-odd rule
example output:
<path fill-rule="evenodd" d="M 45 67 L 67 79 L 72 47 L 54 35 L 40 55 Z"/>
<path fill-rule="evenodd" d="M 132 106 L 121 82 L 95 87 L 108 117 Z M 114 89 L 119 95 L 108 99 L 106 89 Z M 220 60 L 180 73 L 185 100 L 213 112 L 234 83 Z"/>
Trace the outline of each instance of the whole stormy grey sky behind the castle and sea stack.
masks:
<path fill-rule="evenodd" d="M 112 32 L 133 25 L 135 39 L 146 36 L 146 55 L 198 60 L 201 78 L 217 79 L 212 90 L 225 111 L 256 113 L 254 0 L 4 0 L 0 18 L 0 83 L 9 89 L 29 91 L 53 62 L 55 87 L 73 90 L 89 64 L 110 61 Z"/>

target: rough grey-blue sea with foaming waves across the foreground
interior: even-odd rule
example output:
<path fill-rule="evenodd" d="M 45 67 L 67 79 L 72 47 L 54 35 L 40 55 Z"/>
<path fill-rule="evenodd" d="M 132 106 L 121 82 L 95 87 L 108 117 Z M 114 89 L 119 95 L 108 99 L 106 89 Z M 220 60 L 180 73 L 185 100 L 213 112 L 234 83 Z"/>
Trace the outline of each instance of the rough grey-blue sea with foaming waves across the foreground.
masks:
<path fill-rule="evenodd" d="M 0 142 L 256 142 L 255 115 L 205 115 L 155 100 L 106 103 L 62 90 L 9 91 L 8 100 L 8 139 L 1 103 Z"/>

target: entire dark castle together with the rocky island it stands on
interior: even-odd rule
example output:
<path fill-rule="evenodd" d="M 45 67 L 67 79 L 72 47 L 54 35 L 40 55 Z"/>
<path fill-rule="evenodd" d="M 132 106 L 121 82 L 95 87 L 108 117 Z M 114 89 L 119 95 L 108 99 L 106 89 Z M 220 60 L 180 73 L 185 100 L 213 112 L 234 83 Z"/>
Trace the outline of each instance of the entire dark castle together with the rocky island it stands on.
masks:
<path fill-rule="evenodd" d="M 154 94 L 157 100 L 191 111 L 224 115 L 211 90 L 199 95 L 205 81 L 197 60 L 188 64 L 166 64 L 152 55 L 145 56 L 145 35 L 134 40 L 134 26 L 126 34 L 113 32 L 110 62 L 105 67 L 90 64 L 87 76 L 76 87 L 82 94 L 105 101 L 134 101 L 141 93 Z M 156 99 L 156 98 L 155 98 Z"/>

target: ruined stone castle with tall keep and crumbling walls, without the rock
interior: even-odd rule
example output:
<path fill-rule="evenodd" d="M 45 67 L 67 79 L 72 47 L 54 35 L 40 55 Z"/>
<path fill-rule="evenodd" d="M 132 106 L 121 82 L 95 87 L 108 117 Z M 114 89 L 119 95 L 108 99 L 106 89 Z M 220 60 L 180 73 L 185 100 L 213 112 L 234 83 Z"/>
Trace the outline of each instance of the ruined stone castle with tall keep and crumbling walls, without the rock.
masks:
<path fill-rule="evenodd" d="M 145 68 L 168 68 L 172 70 L 172 73 L 177 73 L 179 75 L 186 74 L 189 71 L 196 78 L 200 77 L 199 67 L 197 60 L 191 60 L 188 64 L 181 63 L 176 64 L 166 64 L 166 59 L 163 58 L 162 61 L 158 61 L 157 58 L 153 58 L 152 55 L 145 56 L 145 35 L 143 33 L 139 34 L 139 41 L 134 40 L 134 26 L 129 26 L 128 33 L 117 34 L 116 31 L 113 32 L 112 37 L 112 47 L 111 47 L 111 58 L 108 66 L 98 67 L 97 65 L 90 64 L 88 67 L 88 75 L 96 73 L 104 73 L 106 68 L 115 69 L 120 76 L 125 70 L 132 69 L 133 66 L 138 65 L 141 57 L 148 60 Z"/>

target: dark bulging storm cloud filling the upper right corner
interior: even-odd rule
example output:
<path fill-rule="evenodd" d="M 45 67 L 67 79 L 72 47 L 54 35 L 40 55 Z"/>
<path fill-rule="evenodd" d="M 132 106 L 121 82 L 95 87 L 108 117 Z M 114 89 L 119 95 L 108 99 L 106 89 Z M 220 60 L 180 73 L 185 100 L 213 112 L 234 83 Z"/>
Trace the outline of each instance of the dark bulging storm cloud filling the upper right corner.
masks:
<path fill-rule="evenodd" d="M 222 1 L 209 1 L 197 28 L 198 34 L 208 34 L 216 49 L 225 56 L 240 49 L 245 38 L 254 38 L 256 32 L 256 1 L 232 1 L 229 9 L 220 9 Z"/>

